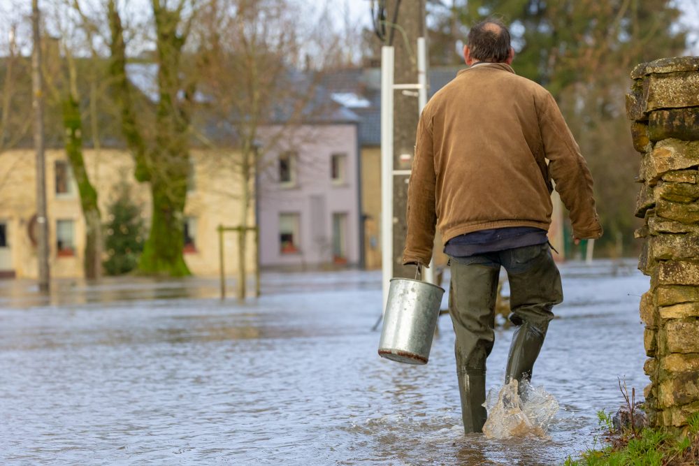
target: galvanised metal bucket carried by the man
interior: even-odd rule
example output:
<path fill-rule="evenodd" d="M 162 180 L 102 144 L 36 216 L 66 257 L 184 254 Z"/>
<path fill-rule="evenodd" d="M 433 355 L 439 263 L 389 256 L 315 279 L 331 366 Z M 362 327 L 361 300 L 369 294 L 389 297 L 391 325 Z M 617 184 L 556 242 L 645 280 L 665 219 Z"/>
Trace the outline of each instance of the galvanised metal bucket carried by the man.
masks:
<path fill-rule="evenodd" d="M 420 280 L 391 279 L 379 341 L 379 356 L 427 364 L 444 289 Z"/>

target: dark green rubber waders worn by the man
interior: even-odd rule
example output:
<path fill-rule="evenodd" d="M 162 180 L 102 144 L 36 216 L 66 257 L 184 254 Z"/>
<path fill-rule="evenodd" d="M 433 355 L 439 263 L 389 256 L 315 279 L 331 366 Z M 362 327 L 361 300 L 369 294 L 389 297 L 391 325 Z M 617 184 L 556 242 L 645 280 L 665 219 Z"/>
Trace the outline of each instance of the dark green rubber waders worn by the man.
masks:
<path fill-rule="evenodd" d="M 495 302 L 500 267 L 510 281 L 510 321 L 517 326 L 507 361 L 506 381 L 530 379 L 544 342 L 551 309 L 563 300 L 561 275 L 549 246 L 533 245 L 469 257 L 452 257 L 449 315 L 456 333 L 464 432 L 482 432 L 486 359 L 495 340 Z"/>

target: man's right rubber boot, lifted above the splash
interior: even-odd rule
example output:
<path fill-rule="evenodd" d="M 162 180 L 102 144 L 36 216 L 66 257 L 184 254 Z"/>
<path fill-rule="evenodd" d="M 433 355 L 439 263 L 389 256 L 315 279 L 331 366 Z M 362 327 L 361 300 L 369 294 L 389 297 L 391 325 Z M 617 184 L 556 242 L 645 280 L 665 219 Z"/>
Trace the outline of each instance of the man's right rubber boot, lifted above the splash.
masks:
<path fill-rule="evenodd" d="M 544 344 L 545 332 L 536 328 L 529 322 L 521 324 L 514 330 L 510 356 L 507 357 L 507 371 L 505 372 L 505 384 L 512 379 L 519 382 L 519 394 L 522 393 L 522 381 L 531 381 L 531 372 L 542 344 Z"/>

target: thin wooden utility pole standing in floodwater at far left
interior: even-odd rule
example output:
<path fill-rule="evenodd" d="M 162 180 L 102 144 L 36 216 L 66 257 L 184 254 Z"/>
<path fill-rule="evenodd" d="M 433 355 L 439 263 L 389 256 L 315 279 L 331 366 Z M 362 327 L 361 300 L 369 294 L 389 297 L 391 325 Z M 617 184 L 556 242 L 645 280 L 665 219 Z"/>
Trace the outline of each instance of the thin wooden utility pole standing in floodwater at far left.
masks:
<path fill-rule="evenodd" d="M 38 0 L 31 1 L 31 27 L 34 32 L 34 53 L 31 54 L 31 83 L 34 107 L 34 148 L 36 149 L 36 226 L 38 228 L 39 291 L 49 289 L 48 219 L 46 218 L 46 166 L 44 160 L 43 77 L 41 75 L 41 22 Z"/>

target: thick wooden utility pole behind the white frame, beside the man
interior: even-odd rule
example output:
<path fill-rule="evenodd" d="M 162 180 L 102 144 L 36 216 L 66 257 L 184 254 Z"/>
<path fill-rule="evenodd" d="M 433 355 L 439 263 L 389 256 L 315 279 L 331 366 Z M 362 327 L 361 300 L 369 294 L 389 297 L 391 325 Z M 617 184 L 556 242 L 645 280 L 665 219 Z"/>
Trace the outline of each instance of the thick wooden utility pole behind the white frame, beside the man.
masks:
<path fill-rule="evenodd" d="M 396 85 L 415 83 L 417 78 L 416 44 L 418 37 L 426 36 L 425 3 L 426 0 L 386 2 L 384 45 L 393 45 L 395 50 Z M 417 92 L 396 92 L 394 99 L 393 276 L 413 278 L 415 268 L 405 267 L 402 262 L 405 235 L 408 233 L 405 218 L 408 208 L 408 180 L 415 157 L 415 136 L 419 118 Z"/>

